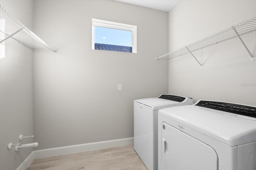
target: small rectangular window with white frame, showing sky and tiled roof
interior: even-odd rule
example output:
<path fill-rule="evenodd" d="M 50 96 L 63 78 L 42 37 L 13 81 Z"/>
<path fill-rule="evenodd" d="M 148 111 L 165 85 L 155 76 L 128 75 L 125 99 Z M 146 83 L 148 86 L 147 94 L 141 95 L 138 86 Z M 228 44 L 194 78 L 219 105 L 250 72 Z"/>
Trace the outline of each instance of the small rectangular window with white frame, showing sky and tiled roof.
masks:
<path fill-rule="evenodd" d="M 92 19 L 92 49 L 137 53 L 137 26 Z"/>

